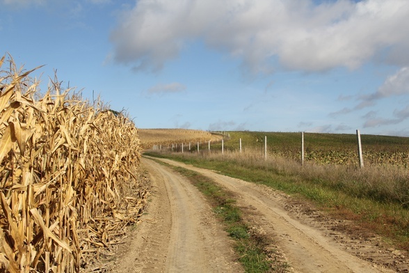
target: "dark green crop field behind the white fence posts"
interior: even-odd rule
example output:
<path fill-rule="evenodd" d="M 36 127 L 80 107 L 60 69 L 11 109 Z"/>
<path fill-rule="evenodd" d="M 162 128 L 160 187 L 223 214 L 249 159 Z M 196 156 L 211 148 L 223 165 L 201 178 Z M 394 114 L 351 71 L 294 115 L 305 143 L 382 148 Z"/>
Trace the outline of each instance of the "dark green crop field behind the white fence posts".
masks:
<path fill-rule="evenodd" d="M 228 136 L 227 136 L 228 135 Z M 264 137 L 267 137 L 268 155 L 281 155 L 294 160 L 301 158 L 300 132 L 225 132 L 224 150 L 252 151 L 264 155 Z M 408 166 L 409 138 L 361 134 L 365 164 L 392 164 Z M 196 147 L 193 146 L 193 150 Z M 202 143 L 201 150 L 207 149 Z M 319 164 L 358 164 L 356 134 L 304 134 L 305 160 Z M 221 150 L 221 143 L 211 143 L 211 150 Z"/>

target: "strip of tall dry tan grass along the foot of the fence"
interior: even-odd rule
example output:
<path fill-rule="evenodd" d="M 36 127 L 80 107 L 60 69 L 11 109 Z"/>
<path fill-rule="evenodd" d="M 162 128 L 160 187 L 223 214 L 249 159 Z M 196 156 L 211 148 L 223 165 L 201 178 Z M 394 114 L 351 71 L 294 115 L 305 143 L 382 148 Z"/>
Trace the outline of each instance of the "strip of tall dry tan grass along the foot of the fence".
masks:
<path fill-rule="evenodd" d="M 185 153 L 184 157 L 197 155 Z M 373 198 L 380 202 L 399 203 L 404 208 L 409 207 L 409 174 L 402 166 L 371 164 L 360 169 L 358 166 L 314 162 L 306 162 L 301 166 L 298 160 L 279 155 L 268 155 L 265 160 L 263 153 L 251 148 L 243 153 L 227 150 L 223 155 L 220 151 L 212 150 L 209 153 L 202 150 L 200 157 L 209 161 L 235 162 L 237 166 L 248 166 L 282 176 L 299 176 L 305 181 L 337 189 L 351 196 Z"/>

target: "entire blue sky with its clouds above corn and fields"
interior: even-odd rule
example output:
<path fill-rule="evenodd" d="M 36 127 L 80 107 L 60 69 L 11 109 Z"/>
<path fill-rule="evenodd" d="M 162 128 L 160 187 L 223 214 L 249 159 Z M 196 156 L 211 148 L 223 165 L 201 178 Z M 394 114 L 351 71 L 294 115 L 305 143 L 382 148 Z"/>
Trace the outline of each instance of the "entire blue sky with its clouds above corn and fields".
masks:
<path fill-rule="evenodd" d="M 140 128 L 409 136 L 409 1 L 0 0 L 0 55 Z"/>

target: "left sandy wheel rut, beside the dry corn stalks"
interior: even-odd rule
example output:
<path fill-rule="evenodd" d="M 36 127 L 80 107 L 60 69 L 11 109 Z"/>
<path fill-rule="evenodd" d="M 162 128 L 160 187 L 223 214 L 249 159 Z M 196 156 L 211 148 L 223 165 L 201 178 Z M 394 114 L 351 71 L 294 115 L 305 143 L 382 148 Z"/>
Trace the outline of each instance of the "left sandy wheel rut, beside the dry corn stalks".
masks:
<path fill-rule="evenodd" d="M 114 272 L 243 272 L 232 240 L 189 180 L 149 159 L 154 196 Z"/>

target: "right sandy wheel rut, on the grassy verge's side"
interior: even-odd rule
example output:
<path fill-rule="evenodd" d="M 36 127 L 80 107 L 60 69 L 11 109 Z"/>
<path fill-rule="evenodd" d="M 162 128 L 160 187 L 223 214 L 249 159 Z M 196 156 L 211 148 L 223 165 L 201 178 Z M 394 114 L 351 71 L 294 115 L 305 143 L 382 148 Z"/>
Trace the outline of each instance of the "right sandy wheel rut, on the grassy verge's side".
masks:
<path fill-rule="evenodd" d="M 284 251 L 295 272 L 394 272 L 353 256 L 324 231 L 292 218 L 282 208 L 280 203 L 282 199 L 275 196 L 273 190 L 268 187 L 222 176 L 207 169 L 196 168 L 170 159 L 161 160 L 174 166 L 197 171 L 237 194 L 238 205 L 242 208 L 250 208 L 258 215 L 253 217 L 253 220 L 268 235 L 275 237 L 278 247 Z"/>

